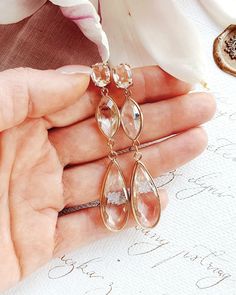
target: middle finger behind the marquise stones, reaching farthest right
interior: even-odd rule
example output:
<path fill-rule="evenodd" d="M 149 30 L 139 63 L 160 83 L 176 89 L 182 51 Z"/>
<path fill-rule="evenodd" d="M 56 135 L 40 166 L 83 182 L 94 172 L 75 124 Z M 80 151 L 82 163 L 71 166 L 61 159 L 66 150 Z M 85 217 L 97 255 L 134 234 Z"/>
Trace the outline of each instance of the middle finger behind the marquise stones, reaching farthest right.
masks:
<path fill-rule="evenodd" d="M 149 142 L 196 127 L 214 114 L 215 101 L 206 93 L 192 93 L 173 99 L 144 104 L 144 128 L 140 141 Z M 130 146 L 131 141 L 119 130 L 115 148 Z M 65 165 L 85 163 L 103 158 L 108 153 L 106 139 L 98 130 L 94 118 L 54 130 L 50 134 L 59 157 Z"/>

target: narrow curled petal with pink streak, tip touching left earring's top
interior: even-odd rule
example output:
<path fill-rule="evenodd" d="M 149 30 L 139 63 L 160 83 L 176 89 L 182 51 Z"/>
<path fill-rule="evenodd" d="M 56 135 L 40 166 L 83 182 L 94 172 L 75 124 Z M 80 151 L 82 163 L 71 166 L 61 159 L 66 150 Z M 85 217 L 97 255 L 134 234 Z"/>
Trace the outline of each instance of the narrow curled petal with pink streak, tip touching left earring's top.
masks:
<path fill-rule="evenodd" d="M 97 45 L 102 60 L 107 61 L 109 59 L 108 40 L 92 3 L 86 1 L 77 6 L 62 7 L 61 10 L 67 18 L 76 23 L 88 39 Z"/>

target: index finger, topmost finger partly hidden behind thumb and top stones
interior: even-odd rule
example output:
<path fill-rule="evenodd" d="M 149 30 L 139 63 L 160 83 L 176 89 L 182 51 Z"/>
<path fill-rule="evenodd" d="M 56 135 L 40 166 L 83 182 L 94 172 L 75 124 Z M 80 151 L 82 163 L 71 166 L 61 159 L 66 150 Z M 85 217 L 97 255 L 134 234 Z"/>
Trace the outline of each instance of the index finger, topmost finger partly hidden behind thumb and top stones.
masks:
<path fill-rule="evenodd" d="M 139 103 L 154 102 L 163 100 L 173 96 L 183 95 L 191 89 L 191 85 L 177 80 L 164 72 L 157 66 L 142 67 L 133 70 L 133 97 Z M 119 106 L 124 101 L 122 90 L 117 89 L 114 83 L 109 86 L 111 96 L 115 99 Z M 47 120 L 53 126 L 65 126 L 62 122 L 66 119 L 67 125 L 85 120 L 94 115 L 96 107 L 101 99 L 98 87 L 91 85 L 86 93 L 63 111 L 47 116 Z"/>

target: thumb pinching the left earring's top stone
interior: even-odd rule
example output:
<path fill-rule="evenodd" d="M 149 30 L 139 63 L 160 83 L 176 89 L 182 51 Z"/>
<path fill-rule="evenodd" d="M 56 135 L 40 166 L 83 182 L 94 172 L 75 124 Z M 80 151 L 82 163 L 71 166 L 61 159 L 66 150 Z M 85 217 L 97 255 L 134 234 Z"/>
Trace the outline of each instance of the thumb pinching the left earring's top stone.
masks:
<path fill-rule="evenodd" d="M 65 69 L 65 70 L 63 70 Z M 70 69 L 73 69 L 71 71 Z M 73 104 L 86 91 L 90 68 L 10 69 L 0 73 L 0 131 Z"/>

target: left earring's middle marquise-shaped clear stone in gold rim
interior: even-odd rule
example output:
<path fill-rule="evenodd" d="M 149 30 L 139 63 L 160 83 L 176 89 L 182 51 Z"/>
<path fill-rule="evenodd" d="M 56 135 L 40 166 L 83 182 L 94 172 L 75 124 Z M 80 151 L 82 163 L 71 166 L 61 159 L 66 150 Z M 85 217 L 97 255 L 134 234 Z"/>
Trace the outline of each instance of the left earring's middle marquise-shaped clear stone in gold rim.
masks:
<path fill-rule="evenodd" d="M 107 138 L 112 138 L 120 125 L 119 109 L 110 96 L 103 96 L 97 107 L 96 118 L 100 130 Z"/>

